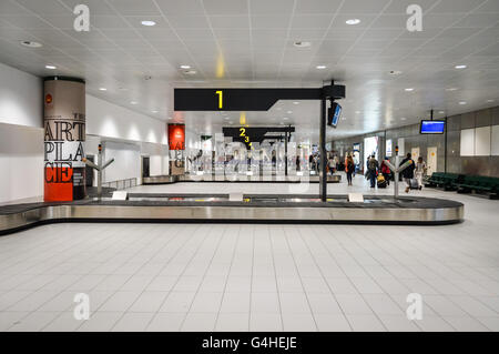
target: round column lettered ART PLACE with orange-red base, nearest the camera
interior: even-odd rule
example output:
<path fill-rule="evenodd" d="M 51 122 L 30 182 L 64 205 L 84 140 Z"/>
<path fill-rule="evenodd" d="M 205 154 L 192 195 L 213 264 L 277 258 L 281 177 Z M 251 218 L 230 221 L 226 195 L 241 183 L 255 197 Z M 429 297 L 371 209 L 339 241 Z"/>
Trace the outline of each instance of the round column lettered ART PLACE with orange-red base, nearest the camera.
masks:
<path fill-rule="evenodd" d="M 50 77 L 44 80 L 44 201 L 84 199 L 85 82 Z"/>

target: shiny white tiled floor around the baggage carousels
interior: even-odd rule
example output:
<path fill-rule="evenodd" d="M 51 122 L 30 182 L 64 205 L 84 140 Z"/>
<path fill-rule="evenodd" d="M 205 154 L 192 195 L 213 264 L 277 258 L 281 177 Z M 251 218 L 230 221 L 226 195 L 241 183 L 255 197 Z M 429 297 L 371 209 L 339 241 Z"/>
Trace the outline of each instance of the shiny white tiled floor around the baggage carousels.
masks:
<path fill-rule="evenodd" d="M 134 191 L 295 192 L 240 183 Z M 371 192 L 361 179 L 349 191 Z M 0 331 L 499 331 L 499 202 L 415 194 L 462 201 L 466 221 L 70 223 L 3 236 Z M 421 321 L 406 317 L 413 292 L 422 295 Z M 90 295 L 89 321 L 73 317 L 77 293 Z"/>

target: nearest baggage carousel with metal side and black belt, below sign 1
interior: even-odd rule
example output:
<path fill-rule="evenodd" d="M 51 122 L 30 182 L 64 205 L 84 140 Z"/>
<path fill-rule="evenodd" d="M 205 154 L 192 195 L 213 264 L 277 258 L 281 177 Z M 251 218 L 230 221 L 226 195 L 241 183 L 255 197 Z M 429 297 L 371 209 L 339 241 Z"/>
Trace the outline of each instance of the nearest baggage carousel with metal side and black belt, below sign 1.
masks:
<path fill-rule="evenodd" d="M 0 235 L 57 222 L 179 222 L 179 223 L 350 223 L 441 225 L 461 222 L 464 204 L 441 199 L 365 196 L 350 203 L 347 195 L 130 193 L 126 201 L 89 198 L 65 203 L 0 206 Z"/>

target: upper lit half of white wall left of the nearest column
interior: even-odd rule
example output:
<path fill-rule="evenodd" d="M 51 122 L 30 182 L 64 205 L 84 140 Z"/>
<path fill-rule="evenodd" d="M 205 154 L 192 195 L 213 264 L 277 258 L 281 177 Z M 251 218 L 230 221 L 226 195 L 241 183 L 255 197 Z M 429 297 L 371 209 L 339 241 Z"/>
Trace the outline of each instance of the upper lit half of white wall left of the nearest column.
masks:
<path fill-rule="evenodd" d="M 0 123 L 43 127 L 42 79 L 0 63 Z"/>

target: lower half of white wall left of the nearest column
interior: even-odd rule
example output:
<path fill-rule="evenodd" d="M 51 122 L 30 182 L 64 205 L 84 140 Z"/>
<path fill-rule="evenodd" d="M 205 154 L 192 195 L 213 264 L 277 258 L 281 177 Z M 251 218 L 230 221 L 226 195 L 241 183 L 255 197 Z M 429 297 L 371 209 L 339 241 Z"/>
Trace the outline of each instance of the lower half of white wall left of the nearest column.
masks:
<path fill-rule="evenodd" d="M 43 195 L 43 129 L 0 123 L 0 203 Z"/>

